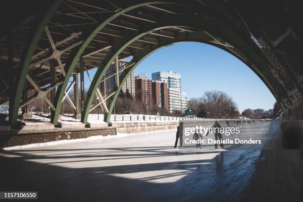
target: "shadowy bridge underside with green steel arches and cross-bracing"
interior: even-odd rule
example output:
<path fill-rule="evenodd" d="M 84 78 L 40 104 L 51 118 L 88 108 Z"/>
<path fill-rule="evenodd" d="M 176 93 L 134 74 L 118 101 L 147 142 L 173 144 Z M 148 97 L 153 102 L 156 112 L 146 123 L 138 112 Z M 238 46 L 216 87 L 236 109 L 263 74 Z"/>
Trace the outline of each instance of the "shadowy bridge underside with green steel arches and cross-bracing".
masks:
<path fill-rule="evenodd" d="M 302 120 L 303 14 L 295 2 L 31 0 L 4 4 L 0 104 L 9 105 L 13 127 L 19 109 L 26 113 L 37 99 L 49 105 L 53 124 L 58 123 L 64 100 L 84 123 L 96 107 L 101 107 L 109 122 L 122 85 L 136 66 L 152 52 L 180 42 L 206 43 L 233 54 L 268 87 L 284 110 L 284 119 Z M 84 73 L 94 68 L 97 71 L 89 75 L 91 85 L 85 95 Z M 106 91 L 112 77 L 115 88 Z M 68 96 L 72 88 L 73 99 Z"/>

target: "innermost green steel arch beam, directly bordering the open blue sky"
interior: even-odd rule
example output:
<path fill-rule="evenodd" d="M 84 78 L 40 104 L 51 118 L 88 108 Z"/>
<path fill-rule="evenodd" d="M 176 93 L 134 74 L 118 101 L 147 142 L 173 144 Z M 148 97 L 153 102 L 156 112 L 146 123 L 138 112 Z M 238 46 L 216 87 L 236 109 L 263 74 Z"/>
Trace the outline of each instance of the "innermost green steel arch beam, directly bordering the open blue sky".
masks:
<path fill-rule="evenodd" d="M 148 45 L 144 48 L 144 50 L 142 50 L 141 52 L 139 52 L 128 64 L 128 66 L 131 66 L 131 68 L 126 68 L 120 75 L 119 77 L 119 87 L 116 88 L 116 93 L 110 97 L 108 99 L 108 113 L 106 113 L 104 115 L 104 121 L 109 123 L 110 122 L 110 115 L 112 113 L 112 110 L 113 110 L 113 107 L 114 107 L 114 103 L 115 101 L 117 100 L 118 96 L 119 96 L 119 92 L 121 91 L 122 89 L 122 86 L 123 84 L 126 82 L 128 76 L 131 74 L 131 72 L 145 59 L 147 58 L 149 55 L 151 55 L 153 52 L 159 50 L 159 49 L 162 49 L 164 47 L 168 47 L 168 46 L 171 46 L 173 44 L 176 44 L 176 43 L 181 43 L 181 42 L 199 42 L 199 43 L 204 43 L 204 44 L 208 44 L 208 45 L 211 45 L 211 46 L 215 46 L 217 48 L 220 48 L 222 50 L 225 50 L 231 54 L 233 54 L 234 56 L 237 57 L 237 55 L 220 46 L 220 45 L 215 45 L 215 44 L 211 44 L 207 41 L 207 39 L 205 38 L 205 35 L 203 35 L 201 32 L 193 32 L 193 33 L 180 33 L 177 38 L 175 40 L 173 39 L 164 39 L 162 38 L 159 42 L 158 45 Z M 239 57 L 238 57 L 239 58 Z M 271 91 L 271 93 L 274 95 L 274 97 L 278 99 L 278 96 L 275 92 L 275 90 L 270 86 L 268 85 L 268 83 L 266 82 L 266 80 L 263 79 L 262 75 L 255 71 L 255 69 L 253 68 L 252 64 L 251 63 L 248 63 L 247 61 L 239 58 L 242 62 L 244 62 L 246 65 L 248 65 L 256 74 L 257 76 L 263 81 L 263 83 L 268 87 L 268 89 Z"/>

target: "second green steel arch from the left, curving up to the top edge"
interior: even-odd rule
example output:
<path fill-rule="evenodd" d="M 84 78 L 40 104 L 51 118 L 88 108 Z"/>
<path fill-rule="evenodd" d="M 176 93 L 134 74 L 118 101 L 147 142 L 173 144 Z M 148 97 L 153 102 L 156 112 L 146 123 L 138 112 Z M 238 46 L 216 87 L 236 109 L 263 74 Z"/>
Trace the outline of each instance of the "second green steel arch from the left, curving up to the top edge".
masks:
<path fill-rule="evenodd" d="M 80 56 L 82 55 L 83 51 L 86 49 L 86 47 L 89 45 L 89 43 L 94 39 L 94 37 L 98 34 L 98 32 L 101 31 L 108 23 L 110 23 L 112 20 L 116 19 L 117 17 L 121 16 L 122 14 L 131 11 L 135 8 L 139 8 L 146 5 L 152 5 L 152 4 L 182 4 L 182 0 L 165 0 L 165 1 L 149 1 L 149 0 L 140 0 L 141 3 L 133 4 L 132 1 L 125 1 L 126 5 L 124 9 L 118 10 L 113 15 L 109 15 L 106 20 L 104 20 L 101 24 L 99 24 L 96 27 L 91 28 L 88 30 L 85 34 L 83 34 L 83 40 L 84 42 L 79 46 L 78 48 L 75 48 L 72 50 L 66 64 L 65 64 L 65 72 L 66 76 L 64 78 L 63 83 L 57 88 L 56 96 L 55 96 L 55 111 L 51 111 L 51 118 L 50 122 L 53 124 L 58 123 L 58 116 L 61 109 L 61 103 L 64 97 L 64 92 L 67 87 L 69 78 L 71 76 L 71 73 L 73 72 L 75 65 L 77 61 L 79 60 Z M 135 1 L 138 2 L 138 1 Z M 82 119 L 82 118 L 81 118 Z"/>

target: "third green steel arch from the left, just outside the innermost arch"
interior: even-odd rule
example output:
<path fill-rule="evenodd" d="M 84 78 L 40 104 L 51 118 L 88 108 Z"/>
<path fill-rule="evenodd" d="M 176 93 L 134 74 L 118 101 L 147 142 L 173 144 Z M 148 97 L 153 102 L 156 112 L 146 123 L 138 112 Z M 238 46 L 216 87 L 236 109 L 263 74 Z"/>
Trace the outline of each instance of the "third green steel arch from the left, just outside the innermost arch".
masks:
<path fill-rule="evenodd" d="M 189 19 L 189 17 L 187 17 L 187 18 L 182 17 L 182 16 L 179 16 L 179 17 L 180 17 L 179 21 L 177 20 L 177 23 L 174 22 L 175 23 L 174 25 L 172 25 L 172 23 L 170 23 L 169 20 L 166 19 L 168 22 L 166 22 L 165 26 L 166 27 L 178 26 L 177 24 L 179 24 L 179 26 L 181 26 L 181 27 L 198 28 L 199 30 L 204 29 L 204 30 L 207 30 L 207 32 L 215 34 L 216 36 L 226 36 L 225 39 L 229 43 L 236 45 L 235 47 L 237 47 L 240 51 L 247 53 L 248 58 L 250 58 L 250 59 L 253 58 L 253 60 L 254 60 L 253 64 L 255 64 L 255 67 L 252 67 L 252 66 L 250 66 L 250 67 L 253 69 L 253 71 L 255 73 L 257 73 L 257 75 L 262 79 L 262 81 L 265 83 L 265 85 L 271 90 L 273 95 L 277 98 L 277 95 L 279 95 L 279 94 L 276 89 L 272 88 L 271 84 L 275 83 L 277 86 L 279 84 L 277 82 L 274 82 L 273 79 L 266 78 L 266 77 L 269 77 L 269 78 L 271 77 L 271 72 L 269 71 L 268 63 L 265 62 L 265 61 L 267 61 L 266 58 L 264 58 L 264 55 L 256 47 L 255 44 L 251 44 L 251 46 L 253 45 L 256 48 L 253 50 L 252 47 L 250 47 L 244 40 L 242 40 L 241 37 L 239 37 L 235 31 L 231 30 L 230 28 L 226 27 L 225 25 L 221 24 L 220 22 L 218 22 L 216 20 L 209 19 L 209 18 L 203 18 L 203 16 L 200 16 L 201 18 L 199 18 L 199 15 L 196 15 L 194 17 L 194 19 L 191 19 L 191 20 Z M 176 17 L 174 19 L 176 20 Z M 194 22 L 198 22 L 197 19 L 199 19 L 200 23 L 194 23 Z M 165 20 L 163 20 L 163 21 L 165 21 Z M 113 47 L 113 49 L 110 51 L 110 53 L 108 55 L 106 55 L 106 58 L 104 59 L 104 62 L 101 63 L 100 68 L 97 70 L 97 72 L 94 76 L 93 82 L 88 91 L 88 95 L 87 95 L 84 109 L 82 111 L 82 116 L 81 116 L 81 121 L 83 123 L 87 123 L 90 106 L 94 99 L 96 90 L 100 84 L 101 78 L 104 76 L 106 70 L 108 69 L 109 65 L 112 63 L 114 58 L 122 50 L 124 50 L 125 47 L 127 47 L 129 44 L 134 42 L 136 39 L 143 36 L 145 33 L 147 34 L 156 29 L 165 28 L 164 24 L 165 24 L 165 22 L 162 22 L 162 26 L 160 26 L 159 28 L 154 28 L 149 31 L 143 30 L 141 32 L 132 32 L 134 34 L 130 34 L 131 32 L 125 34 L 125 36 L 122 37 L 118 41 L 118 43 L 116 43 L 116 45 Z M 198 40 L 198 39 L 196 39 L 196 40 Z M 198 40 L 198 42 L 199 42 L 199 40 Z M 262 67 L 262 68 L 258 69 L 257 67 Z M 125 74 L 127 74 L 127 73 L 125 73 Z M 263 76 L 263 75 L 266 75 L 266 76 Z M 123 76 L 123 74 L 122 74 L 122 76 Z M 120 82 L 120 85 L 121 86 L 123 85 L 122 80 Z M 117 88 L 116 92 L 119 92 L 120 89 L 121 89 L 121 87 Z M 279 90 L 280 90 L 280 95 L 285 96 L 285 92 L 283 93 L 283 91 L 281 91 L 282 89 L 279 89 Z M 117 95 L 115 95 L 115 96 L 117 96 Z M 112 101 L 109 101 L 109 103 L 114 102 L 114 101 L 115 101 L 115 99 Z M 110 113 L 108 113 L 107 115 L 105 114 L 104 121 L 109 122 L 109 115 L 110 115 Z"/>

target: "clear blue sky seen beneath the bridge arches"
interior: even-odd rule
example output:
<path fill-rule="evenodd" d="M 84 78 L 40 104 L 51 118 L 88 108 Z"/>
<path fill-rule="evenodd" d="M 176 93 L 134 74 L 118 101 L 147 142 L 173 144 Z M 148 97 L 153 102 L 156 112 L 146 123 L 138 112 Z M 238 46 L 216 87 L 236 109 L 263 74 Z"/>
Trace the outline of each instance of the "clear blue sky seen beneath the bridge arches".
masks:
<path fill-rule="evenodd" d="M 205 91 L 220 90 L 246 108 L 273 108 L 276 101 L 255 73 L 233 55 L 202 43 L 179 43 L 154 52 L 135 69 L 135 75 L 173 71 L 181 74 L 182 92 L 187 98 L 201 97 Z M 93 78 L 96 69 L 91 70 Z M 85 76 L 85 88 L 89 79 Z M 79 79 L 80 80 L 80 79 Z"/>

